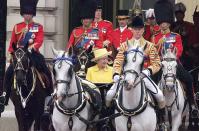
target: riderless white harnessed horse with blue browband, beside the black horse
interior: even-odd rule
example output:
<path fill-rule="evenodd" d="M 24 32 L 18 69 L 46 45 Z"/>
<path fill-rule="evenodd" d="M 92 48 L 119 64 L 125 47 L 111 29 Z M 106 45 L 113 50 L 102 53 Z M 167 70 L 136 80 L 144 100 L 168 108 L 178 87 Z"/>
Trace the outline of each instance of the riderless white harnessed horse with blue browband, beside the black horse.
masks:
<path fill-rule="evenodd" d="M 53 49 L 53 53 L 57 98 L 52 114 L 53 126 L 56 131 L 86 131 L 88 123 L 84 120 L 88 120 L 91 114 L 90 104 L 73 71 L 72 58 L 68 52 Z"/>

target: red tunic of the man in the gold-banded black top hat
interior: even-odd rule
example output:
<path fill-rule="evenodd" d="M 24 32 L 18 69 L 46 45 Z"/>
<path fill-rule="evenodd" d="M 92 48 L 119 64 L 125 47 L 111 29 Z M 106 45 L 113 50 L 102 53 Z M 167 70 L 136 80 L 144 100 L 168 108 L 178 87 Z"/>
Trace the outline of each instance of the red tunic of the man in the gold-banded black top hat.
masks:
<path fill-rule="evenodd" d="M 118 49 L 121 43 L 125 42 L 127 39 L 130 40 L 132 37 L 133 33 L 130 29 L 126 28 L 123 32 L 121 32 L 120 28 L 117 28 L 111 33 L 109 41 L 115 49 Z"/>

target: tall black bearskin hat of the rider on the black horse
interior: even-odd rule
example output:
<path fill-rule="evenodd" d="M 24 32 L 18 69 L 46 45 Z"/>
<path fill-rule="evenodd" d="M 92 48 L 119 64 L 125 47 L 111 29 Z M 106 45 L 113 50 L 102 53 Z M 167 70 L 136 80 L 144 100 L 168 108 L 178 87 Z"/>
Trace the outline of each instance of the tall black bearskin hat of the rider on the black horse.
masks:
<path fill-rule="evenodd" d="M 32 14 L 36 16 L 38 0 L 20 0 L 20 14 Z"/>

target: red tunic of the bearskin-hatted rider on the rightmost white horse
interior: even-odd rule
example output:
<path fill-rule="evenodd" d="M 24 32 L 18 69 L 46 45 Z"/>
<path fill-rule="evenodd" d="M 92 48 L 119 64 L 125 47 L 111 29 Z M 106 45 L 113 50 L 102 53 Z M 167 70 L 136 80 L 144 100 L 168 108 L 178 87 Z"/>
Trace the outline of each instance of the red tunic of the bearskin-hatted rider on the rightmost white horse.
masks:
<path fill-rule="evenodd" d="M 173 47 L 177 48 L 177 58 L 179 59 L 182 55 L 183 46 L 182 46 L 182 40 L 181 36 L 177 33 L 168 32 L 166 34 L 162 34 L 161 32 L 155 35 L 154 41 L 155 46 L 157 47 L 157 50 L 159 54 L 161 55 L 161 48 L 163 44 L 167 44 L 166 46 L 170 46 L 170 44 L 173 45 Z"/>

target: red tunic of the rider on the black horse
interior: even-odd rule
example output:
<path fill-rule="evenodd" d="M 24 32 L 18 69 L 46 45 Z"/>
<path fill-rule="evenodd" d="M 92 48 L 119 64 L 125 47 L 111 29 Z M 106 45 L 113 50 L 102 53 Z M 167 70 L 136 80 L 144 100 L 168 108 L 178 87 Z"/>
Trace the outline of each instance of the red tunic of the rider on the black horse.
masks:
<path fill-rule="evenodd" d="M 27 25 L 25 22 L 18 23 L 14 26 L 8 48 L 10 53 L 13 52 L 12 44 L 21 46 L 21 41 L 24 39 L 25 30 L 32 33 L 31 39 L 33 40 L 33 43 L 28 43 L 29 46 L 33 44 L 36 51 L 39 51 L 39 48 L 42 46 L 44 38 L 43 26 L 34 22 L 28 24 L 28 29 L 26 29 L 26 26 Z"/>

